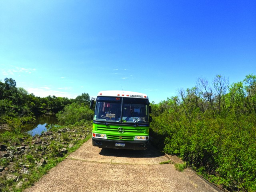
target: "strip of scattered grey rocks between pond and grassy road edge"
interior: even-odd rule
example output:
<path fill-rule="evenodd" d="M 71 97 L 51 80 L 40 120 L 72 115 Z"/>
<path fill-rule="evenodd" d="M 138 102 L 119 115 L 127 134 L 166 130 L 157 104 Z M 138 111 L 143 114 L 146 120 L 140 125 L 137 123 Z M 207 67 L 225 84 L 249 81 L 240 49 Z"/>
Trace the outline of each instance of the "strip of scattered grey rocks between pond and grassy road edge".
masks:
<path fill-rule="evenodd" d="M 27 136 L 14 145 L 0 144 L 0 180 L 12 180 L 20 188 L 32 169 L 47 164 L 49 157 L 60 157 L 91 133 L 84 126 L 47 131 L 40 136 Z M 0 186 L 1 191 L 1 186 Z"/>

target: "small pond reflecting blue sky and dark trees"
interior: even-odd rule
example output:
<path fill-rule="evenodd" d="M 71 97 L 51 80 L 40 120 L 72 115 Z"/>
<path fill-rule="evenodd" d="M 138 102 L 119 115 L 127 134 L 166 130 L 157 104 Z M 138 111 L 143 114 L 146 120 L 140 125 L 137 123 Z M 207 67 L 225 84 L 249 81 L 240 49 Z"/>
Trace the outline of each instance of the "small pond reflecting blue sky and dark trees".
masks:
<path fill-rule="evenodd" d="M 40 115 L 36 117 L 36 122 L 27 126 L 26 130 L 32 135 L 40 135 L 46 131 L 46 126 L 57 124 L 58 120 L 55 115 Z"/>

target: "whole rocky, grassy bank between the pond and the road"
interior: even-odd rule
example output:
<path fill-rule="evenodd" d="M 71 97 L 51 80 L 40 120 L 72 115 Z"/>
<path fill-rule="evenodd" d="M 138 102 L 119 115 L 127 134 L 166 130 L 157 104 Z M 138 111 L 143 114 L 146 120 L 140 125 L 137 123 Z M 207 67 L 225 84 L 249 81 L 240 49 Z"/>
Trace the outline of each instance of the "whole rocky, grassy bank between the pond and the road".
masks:
<path fill-rule="evenodd" d="M 40 136 L 5 132 L 0 140 L 0 191 L 21 192 L 91 137 L 90 124 L 52 126 Z M 4 136 L 3 136 L 4 135 Z"/>

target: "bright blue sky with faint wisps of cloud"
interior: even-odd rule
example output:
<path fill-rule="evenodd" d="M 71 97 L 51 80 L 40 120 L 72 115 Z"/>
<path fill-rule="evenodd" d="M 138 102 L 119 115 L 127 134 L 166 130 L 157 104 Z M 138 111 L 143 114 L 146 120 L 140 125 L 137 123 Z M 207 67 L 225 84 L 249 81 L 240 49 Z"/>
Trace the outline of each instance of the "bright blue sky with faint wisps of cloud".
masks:
<path fill-rule="evenodd" d="M 0 80 L 35 96 L 146 93 L 256 74 L 255 0 L 0 1 Z"/>

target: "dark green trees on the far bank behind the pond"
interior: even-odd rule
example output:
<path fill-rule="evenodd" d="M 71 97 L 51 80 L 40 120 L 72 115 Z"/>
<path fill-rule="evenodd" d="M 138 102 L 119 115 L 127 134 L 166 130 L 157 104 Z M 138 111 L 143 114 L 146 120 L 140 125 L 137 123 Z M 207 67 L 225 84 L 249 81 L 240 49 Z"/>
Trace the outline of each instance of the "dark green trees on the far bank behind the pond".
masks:
<path fill-rule="evenodd" d="M 80 108 L 88 106 L 89 102 L 88 93 L 82 93 L 75 99 L 50 95 L 39 97 L 16 87 L 12 78 L 5 78 L 4 82 L 0 80 L 0 123 L 8 123 L 11 128 L 31 123 L 39 114 L 56 114 L 73 103 Z"/>

